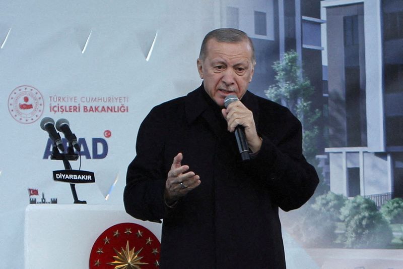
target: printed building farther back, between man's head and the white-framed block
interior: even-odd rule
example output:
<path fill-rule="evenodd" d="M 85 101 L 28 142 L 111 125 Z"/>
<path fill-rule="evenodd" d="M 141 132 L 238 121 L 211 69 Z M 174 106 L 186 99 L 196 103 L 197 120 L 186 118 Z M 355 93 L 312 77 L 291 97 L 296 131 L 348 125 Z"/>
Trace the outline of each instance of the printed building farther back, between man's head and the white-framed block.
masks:
<path fill-rule="evenodd" d="M 325 184 L 329 184 L 328 156 L 324 154 L 328 140 L 325 117 L 327 111 L 326 80 L 322 73 L 321 25 L 319 0 L 223 0 L 219 7 L 220 26 L 245 31 L 255 47 L 256 66 L 249 90 L 266 97 L 264 91 L 276 83 L 273 64 L 282 59 L 284 53 L 298 53 L 298 65 L 303 75 L 314 87 L 312 109 L 323 111 L 318 120 L 317 144 L 318 167 L 321 168 Z M 326 70 L 323 70 L 326 71 Z"/>

